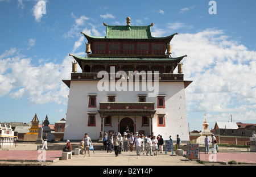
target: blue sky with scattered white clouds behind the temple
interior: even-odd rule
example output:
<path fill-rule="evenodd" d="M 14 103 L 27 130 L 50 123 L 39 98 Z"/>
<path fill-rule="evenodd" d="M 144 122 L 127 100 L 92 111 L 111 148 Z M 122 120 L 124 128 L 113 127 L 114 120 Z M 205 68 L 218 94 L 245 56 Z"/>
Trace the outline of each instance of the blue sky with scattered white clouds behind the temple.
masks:
<path fill-rule="evenodd" d="M 201 130 L 204 113 L 216 121 L 256 123 L 256 2 L 208 0 L 50 1 L 46 14 L 36 0 L 0 0 L 0 121 L 28 123 L 35 113 L 51 123 L 65 118 L 72 57 L 85 56 L 85 37 L 105 36 L 106 27 L 146 26 L 152 35 L 178 32 L 173 57 L 183 56 L 189 129 Z"/>

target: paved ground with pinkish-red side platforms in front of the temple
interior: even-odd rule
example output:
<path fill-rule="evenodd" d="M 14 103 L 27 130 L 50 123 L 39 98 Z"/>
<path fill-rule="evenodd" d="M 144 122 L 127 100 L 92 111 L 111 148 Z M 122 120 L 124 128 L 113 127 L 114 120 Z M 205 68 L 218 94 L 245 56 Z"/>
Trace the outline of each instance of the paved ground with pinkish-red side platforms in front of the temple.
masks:
<path fill-rule="evenodd" d="M 63 143 L 62 143 L 63 144 Z M 41 151 L 34 143 L 18 143 L 16 147 L 0 149 L 0 165 L 47 165 L 47 166 L 202 166 L 196 161 L 186 161 L 183 156 L 160 154 L 156 156 L 137 155 L 136 151 L 122 152 L 115 157 L 114 151 L 107 153 L 103 150 L 90 151 L 90 157 L 72 155 L 68 161 L 60 160 L 61 150 Z M 247 152 L 247 149 L 219 147 L 220 153 L 200 153 L 201 161 L 229 162 L 236 161 L 256 165 L 256 153 Z M 230 150 L 231 149 L 231 150 Z M 185 152 L 184 152 L 185 154 Z M 46 162 L 38 162 L 46 161 Z"/>

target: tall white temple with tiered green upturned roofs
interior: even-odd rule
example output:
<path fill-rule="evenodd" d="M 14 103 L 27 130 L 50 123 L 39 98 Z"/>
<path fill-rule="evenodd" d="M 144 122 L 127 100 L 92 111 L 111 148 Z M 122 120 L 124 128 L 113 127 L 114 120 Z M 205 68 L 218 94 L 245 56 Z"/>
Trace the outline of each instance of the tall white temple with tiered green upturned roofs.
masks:
<path fill-rule="evenodd" d="M 64 140 L 97 140 L 100 132 L 162 135 L 179 134 L 189 141 L 181 60 L 172 57 L 171 40 L 153 37 L 148 26 L 106 26 L 106 36 L 85 36 L 85 56 L 72 56 Z M 77 64 L 81 73 L 77 73 Z M 178 68 L 177 73 L 174 70 Z"/>

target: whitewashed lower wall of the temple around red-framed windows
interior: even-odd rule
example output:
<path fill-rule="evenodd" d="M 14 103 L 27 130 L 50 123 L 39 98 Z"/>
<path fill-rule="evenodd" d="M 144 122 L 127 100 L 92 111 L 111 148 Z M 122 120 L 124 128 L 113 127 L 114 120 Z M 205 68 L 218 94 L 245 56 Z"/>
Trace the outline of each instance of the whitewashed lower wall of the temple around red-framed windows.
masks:
<path fill-rule="evenodd" d="M 97 83 L 96 81 L 71 81 L 64 140 L 81 140 L 84 133 L 88 133 L 93 140 L 98 139 L 101 131 L 101 118 L 97 110 L 100 109 L 100 102 L 108 102 L 107 94 L 115 94 L 115 102 L 138 102 L 138 94 L 148 94 L 148 91 L 98 91 Z M 88 94 L 97 94 L 96 108 L 88 108 Z M 166 127 L 157 126 L 158 115 L 155 113 L 152 119 L 154 135 L 160 134 L 164 140 L 168 140 L 171 135 L 172 139 L 176 140 L 176 134 L 179 134 L 181 142 L 189 141 L 184 83 L 159 82 L 159 94 L 166 94 L 164 98 L 166 108 L 157 108 L 157 96 L 148 97 L 147 95 L 146 97 L 146 102 L 155 103 L 156 113 L 166 113 Z M 87 127 L 87 112 L 97 112 L 96 127 Z M 112 118 L 112 127 L 104 127 L 104 131 L 118 131 L 118 119 L 115 117 L 117 116 Z M 134 116 L 119 116 L 119 120 L 121 121 L 123 117 L 131 117 L 134 120 Z M 146 135 L 150 134 L 150 127 L 141 127 L 141 116 L 136 116 L 136 120 L 136 131 L 144 130 Z"/>

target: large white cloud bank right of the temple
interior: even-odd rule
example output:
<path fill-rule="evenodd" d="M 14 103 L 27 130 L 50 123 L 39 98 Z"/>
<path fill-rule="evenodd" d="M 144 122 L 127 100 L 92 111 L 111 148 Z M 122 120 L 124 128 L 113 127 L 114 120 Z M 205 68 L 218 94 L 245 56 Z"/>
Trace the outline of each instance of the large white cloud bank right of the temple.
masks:
<path fill-rule="evenodd" d="M 172 57 L 188 55 L 183 59 L 184 79 L 193 81 L 185 90 L 188 111 L 210 112 L 212 121 L 230 113 L 240 121 L 255 119 L 256 51 L 216 29 L 179 34 L 171 43 Z"/>

